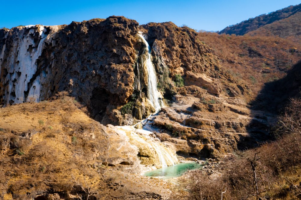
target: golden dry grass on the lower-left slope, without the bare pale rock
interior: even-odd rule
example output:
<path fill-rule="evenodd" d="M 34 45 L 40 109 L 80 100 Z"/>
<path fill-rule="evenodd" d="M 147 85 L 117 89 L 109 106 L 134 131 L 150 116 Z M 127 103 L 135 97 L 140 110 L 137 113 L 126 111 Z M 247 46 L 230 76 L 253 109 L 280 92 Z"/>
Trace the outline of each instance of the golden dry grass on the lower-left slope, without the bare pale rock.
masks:
<path fill-rule="evenodd" d="M 0 154 L 0 165 L 6 172 L 0 178 L 1 191 L 10 192 L 17 199 L 36 190 L 72 191 L 71 175 L 78 179 L 88 177 L 89 184 L 100 183 L 98 173 L 88 165 L 105 150 L 99 144 L 107 143 L 106 134 L 73 102 L 73 98 L 62 95 L 52 102 L 1 109 L 1 139 L 11 144 Z M 44 123 L 39 124 L 39 120 Z M 72 137 L 77 138 L 76 144 Z M 98 153 L 89 154 L 91 151 Z"/>

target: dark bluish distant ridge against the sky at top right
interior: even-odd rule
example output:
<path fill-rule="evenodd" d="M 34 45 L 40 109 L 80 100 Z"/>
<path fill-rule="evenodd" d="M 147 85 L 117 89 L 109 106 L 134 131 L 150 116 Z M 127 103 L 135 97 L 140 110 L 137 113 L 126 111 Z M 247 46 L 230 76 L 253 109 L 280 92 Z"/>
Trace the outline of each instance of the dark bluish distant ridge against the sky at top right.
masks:
<path fill-rule="evenodd" d="M 286 8 L 283 8 L 281 10 L 277 10 L 272 13 L 268 14 L 262 14 L 255 18 L 250 18 L 248 20 L 245 20 L 243 22 L 240 22 L 236 25 L 231 25 L 223 30 L 219 31 L 219 34 L 225 33 L 225 34 L 236 34 L 236 35 L 244 35 L 250 31 L 254 31 L 264 25 L 271 24 L 275 21 L 288 18 L 295 13 L 298 13 L 301 11 L 301 4 L 295 5 L 295 6 L 289 6 Z"/>

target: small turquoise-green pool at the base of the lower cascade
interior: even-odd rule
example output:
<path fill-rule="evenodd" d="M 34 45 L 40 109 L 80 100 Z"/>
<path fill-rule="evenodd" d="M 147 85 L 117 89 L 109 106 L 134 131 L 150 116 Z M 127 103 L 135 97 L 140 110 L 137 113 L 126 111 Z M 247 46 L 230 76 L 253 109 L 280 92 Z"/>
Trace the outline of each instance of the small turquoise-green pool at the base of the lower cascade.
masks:
<path fill-rule="evenodd" d="M 144 176 L 169 179 L 182 176 L 185 172 L 192 169 L 199 169 L 203 165 L 200 163 L 177 163 L 173 166 L 163 167 L 144 173 Z"/>

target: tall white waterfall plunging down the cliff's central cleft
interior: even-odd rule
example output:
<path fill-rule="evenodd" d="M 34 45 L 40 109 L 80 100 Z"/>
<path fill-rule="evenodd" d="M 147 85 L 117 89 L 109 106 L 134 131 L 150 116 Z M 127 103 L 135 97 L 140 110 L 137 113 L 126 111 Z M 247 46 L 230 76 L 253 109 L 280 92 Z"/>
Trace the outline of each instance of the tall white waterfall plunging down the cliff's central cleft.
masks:
<path fill-rule="evenodd" d="M 150 100 L 151 104 L 154 106 L 156 112 L 158 112 L 163 105 L 163 101 L 159 100 L 162 99 L 161 93 L 157 90 L 157 75 L 155 71 L 155 67 L 151 62 L 151 47 L 148 45 L 147 41 L 139 32 L 138 36 L 142 39 L 145 44 L 144 51 L 147 52 L 147 59 L 143 60 L 143 67 L 147 69 L 147 98 Z M 160 105 L 161 104 L 161 105 Z"/>

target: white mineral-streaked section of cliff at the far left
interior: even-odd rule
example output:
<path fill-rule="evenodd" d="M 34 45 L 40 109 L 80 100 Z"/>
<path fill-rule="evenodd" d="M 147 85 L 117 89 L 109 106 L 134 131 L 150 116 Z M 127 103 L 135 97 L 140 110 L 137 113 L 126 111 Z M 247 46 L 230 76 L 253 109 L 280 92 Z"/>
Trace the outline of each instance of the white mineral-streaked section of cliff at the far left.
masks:
<path fill-rule="evenodd" d="M 1 83 L 0 96 L 4 104 L 39 101 L 41 96 L 41 76 L 37 61 L 41 56 L 44 41 L 57 27 L 29 25 L 11 30 L 2 29 L 0 55 Z M 45 73 L 45 72 L 44 72 Z"/>

